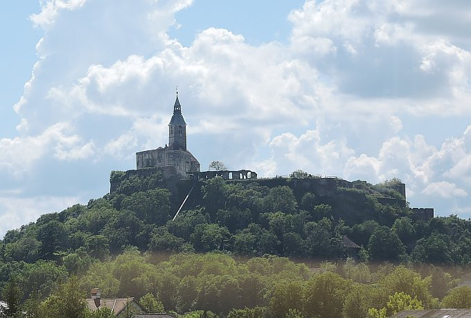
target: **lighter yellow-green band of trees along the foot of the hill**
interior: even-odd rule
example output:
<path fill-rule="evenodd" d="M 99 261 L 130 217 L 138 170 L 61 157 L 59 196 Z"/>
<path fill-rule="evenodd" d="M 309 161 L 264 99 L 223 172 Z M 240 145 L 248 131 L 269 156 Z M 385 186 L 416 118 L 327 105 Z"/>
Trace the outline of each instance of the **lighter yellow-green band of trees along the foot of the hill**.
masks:
<path fill-rule="evenodd" d="M 48 263 L 48 269 L 67 271 L 54 263 Z M 48 283 L 58 287 L 49 295 L 47 287 L 36 285 L 26 301 L 16 303 L 19 315 L 15 317 L 112 317 L 105 310 L 98 315 L 85 307 L 87 293 L 96 287 L 103 298 L 136 297 L 150 311 L 165 310 L 186 318 L 364 318 L 387 317 L 405 309 L 471 308 L 471 289 L 456 288 L 459 274 L 463 273 L 433 265 L 416 270 L 405 265 L 373 267 L 351 258 L 312 268 L 279 256 L 166 257 L 127 249 L 114 259 L 96 260 L 78 277 L 50 276 Z M 13 285 L 21 297 L 28 292 L 29 280 L 37 282 L 39 276 L 37 270 L 18 269 L 3 294 L 8 297 Z M 37 316 L 31 316 L 33 312 Z"/>

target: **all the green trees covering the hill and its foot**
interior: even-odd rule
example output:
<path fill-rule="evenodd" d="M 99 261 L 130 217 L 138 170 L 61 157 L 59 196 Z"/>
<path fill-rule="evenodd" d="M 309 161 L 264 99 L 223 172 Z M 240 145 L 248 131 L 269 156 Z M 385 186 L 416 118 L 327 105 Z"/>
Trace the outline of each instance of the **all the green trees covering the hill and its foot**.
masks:
<path fill-rule="evenodd" d="M 172 221 L 178 200 L 159 173 L 116 178 L 113 193 L 6 233 L 0 289 L 22 308 L 15 317 L 68 317 L 69 305 L 82 312 L 73 317 L 109 317 L 91 316 L 80 301 L 96 287 L 184 317 L 471 307 L 470 288 L 457 287 L 471 263 L 471 221 L 415 219 L 407 206 L 380 204 L 378 193 L 400 199 L 398 180 L 339 188 L 333 200 L 215 177 Z M 361 248 L 348 249 L 344 237 Z"/>

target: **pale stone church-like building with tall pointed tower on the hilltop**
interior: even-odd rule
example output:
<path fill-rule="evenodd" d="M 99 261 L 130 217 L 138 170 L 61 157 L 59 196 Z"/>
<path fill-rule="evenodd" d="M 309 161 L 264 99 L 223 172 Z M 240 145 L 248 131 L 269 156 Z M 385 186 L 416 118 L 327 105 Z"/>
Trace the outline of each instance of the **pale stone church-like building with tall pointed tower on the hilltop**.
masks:
<path fill-rule="evenodd" d="M 177 177 L 183 178 L 187 178 L 188 173 L 199 172 L 199 162 L 186 149 L 186 123 L 181 115 L 178 92 L 173 116 L 168 124 L 168 145 L 136 152 L 136 169 L 165 167 L 174 167 Z"/>

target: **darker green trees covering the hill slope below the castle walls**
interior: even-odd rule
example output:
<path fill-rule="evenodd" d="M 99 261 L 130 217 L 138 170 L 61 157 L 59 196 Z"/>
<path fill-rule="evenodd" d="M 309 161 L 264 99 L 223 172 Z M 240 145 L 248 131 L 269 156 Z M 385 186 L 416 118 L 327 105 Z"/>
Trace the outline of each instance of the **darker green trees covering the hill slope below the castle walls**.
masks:
<path fill-rule="evenodd" d="M 7 265 L 53 260 L 78 272 L 87 267 L 89 258 L 103 260 L 134 246 L 154 252 L 217 250 L 337 260 L 351 254 L 343 241 L 347 236 L 362 247 L 355 252 L 362 261 L 471 262 L 470 220 L 451 215 L 414 221 L 409 209 L 379 204 L 368 192 L 373 187 L 387 190 L 387 184 L 340 189 L 343 200 L 332 201 L 312 192 L 295 195 L 289 186 L 269 188 L 216 177 L 204 182 L 192 209 L 181 211 L 175 221 L 171 220 L 172 194 L 156 188 L 159 184 L 159 174 L 133 176 L 116 193 L 42 215 L 35 223 L 8 231 L 0 242 L 0 259 Z M 359 215 L 353 218 L 341 208 L 362 201 L 355 197 L 364 202 L 358 204 Z"/>

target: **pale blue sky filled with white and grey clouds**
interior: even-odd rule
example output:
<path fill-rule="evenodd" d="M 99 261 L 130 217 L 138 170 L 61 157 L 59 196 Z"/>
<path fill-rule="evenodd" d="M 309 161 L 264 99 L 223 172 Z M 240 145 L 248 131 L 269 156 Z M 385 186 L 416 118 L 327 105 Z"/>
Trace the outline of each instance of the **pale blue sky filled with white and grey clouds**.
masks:
<path fill-rule="evenodd" d="M 0 10 L 0 236 L 168 143 L 471 217 L 468 0 L 42 0 Z"/>

